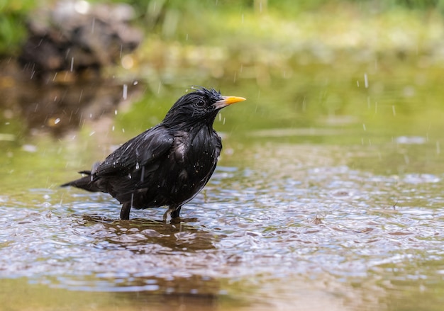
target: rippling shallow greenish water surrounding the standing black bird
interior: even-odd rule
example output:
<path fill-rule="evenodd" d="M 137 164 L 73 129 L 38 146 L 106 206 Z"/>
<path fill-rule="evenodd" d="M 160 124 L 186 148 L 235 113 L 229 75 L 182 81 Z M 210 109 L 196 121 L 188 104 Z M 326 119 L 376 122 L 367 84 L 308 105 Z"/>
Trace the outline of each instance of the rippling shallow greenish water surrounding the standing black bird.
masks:
<path fill-rule="evenodd" d="M 296 64 L 270 85 L 226 82 L 223 94 L 248 101 L 216 119 L 219 166 L 173 223 L 165 208 L 120 221 L 113 198 L 58 185 L 159 122 L 182 86 L 125 101 L 116 81 L 7 89 L 2 307 L 441 310 L 440 67 L 421 62 L 418 77 L 414 61 L 374 63 L 339 58 Z M 145 87 L 132 85 L 128 94 Z"/>

